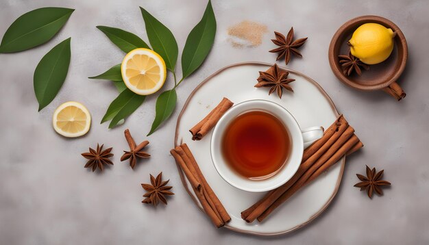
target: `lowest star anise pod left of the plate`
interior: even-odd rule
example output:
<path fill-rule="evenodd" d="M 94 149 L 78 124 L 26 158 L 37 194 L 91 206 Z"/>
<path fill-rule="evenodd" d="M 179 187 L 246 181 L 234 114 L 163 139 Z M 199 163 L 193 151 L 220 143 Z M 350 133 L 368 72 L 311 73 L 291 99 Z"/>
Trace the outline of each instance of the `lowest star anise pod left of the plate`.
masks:
<path fill-rule="evenodd" d="M 162 181 L 162 172 L 160 172 L 156 179 L 154 176 L 150 176 L 151 184 L 141 184 L 143 189 L 146 190 L 146 193 L 143 195 L 145 199 L 142 201 L 142 203 L 151 203 L 156 206 L 158 205 L 159 201 L 162 201 L 162 203 L 167 205 L 167 199 L 165 196 L 174 195 L 173 192 L 169 191 L 172 187 L 167 186 L 167 183 L 169 183 L 170 180 Z"/>

